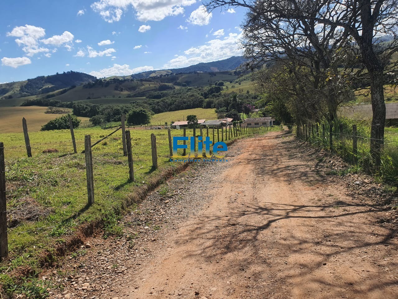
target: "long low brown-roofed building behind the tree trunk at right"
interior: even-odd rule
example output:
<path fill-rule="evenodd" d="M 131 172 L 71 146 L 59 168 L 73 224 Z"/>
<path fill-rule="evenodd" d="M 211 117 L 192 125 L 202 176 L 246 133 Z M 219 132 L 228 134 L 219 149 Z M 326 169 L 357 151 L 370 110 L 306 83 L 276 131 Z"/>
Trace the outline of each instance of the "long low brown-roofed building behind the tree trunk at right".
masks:
<path fill-rule="evenodd" d="M 337 110 L 337 115 L 353 120 L 371 120 L 373 116 L 372 105 L 341 106 Z M 396 126 L 397 124 L 398 102 L 386 103 L 386 126 Z"/>

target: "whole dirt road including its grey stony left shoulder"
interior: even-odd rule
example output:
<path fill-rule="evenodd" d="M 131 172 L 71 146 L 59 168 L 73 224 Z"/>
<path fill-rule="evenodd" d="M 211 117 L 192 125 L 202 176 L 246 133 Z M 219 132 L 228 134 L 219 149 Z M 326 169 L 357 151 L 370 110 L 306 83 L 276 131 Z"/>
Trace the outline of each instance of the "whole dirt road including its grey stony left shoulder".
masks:
<path fill-rule="evenodd" d="M 44 279 L 52 298 L 398 298 L 394 194 L 288 132 L 192 165 Z M 330 171 L 330 170 L 334 171 Z M 384 188 L 384 189 L 383 189 Z"/>

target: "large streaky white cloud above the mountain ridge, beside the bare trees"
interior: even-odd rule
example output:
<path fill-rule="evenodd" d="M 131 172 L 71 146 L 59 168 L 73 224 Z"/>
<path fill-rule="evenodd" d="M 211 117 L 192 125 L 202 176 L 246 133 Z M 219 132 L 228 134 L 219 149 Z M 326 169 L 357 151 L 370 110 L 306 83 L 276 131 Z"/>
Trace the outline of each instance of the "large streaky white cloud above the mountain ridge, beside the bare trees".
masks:
<path fill-rule="evenodd" d="M 191 47 L 184 51 L 184 55 L 178 55 L 166 63 L 164 69 L 174 69 L 187 67 L 200 62 L 217 61 L 231 56 L 242 55 L 242 49 L 239 49 L 239 40 L 242 33 L 229 33 L 224 39 L 213 39 L 199 47 Z"/>

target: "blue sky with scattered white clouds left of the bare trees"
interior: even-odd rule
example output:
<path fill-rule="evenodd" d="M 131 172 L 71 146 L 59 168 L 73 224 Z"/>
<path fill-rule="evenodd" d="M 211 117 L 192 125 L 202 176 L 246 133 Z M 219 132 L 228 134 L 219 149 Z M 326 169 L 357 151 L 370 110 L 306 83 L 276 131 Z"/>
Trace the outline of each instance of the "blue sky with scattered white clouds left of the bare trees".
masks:
<path fill-rule="evenodd" d="M 97 77 L 241 55 L 244 11 L 196 0 L 9 1 L 0 12 L 0 83 L 68 70 Z"/>

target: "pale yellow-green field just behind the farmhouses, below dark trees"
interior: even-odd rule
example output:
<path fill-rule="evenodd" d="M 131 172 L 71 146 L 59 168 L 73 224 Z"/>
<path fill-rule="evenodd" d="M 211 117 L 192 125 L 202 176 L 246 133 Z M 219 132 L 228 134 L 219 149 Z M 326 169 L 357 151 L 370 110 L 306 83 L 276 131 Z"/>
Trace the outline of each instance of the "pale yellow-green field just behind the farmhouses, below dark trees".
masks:
<path fill-rule="evenodd" d="M 155 114 L 151 118 L 152 124 L 164 124 L 164 122 L 179 121 L 179 120 L 187 120 L 187 115 L 196 115 L 198 119 L 206 119 L 206 120 L 214 120 L 217 119 L 217 113 L 214 108 L 203 109 L 203 108 L 195 108 L 195 109 L 187 109 L 187 110 L 178 110 L 171 112 L 163 112 L 159 114 Z"/>

